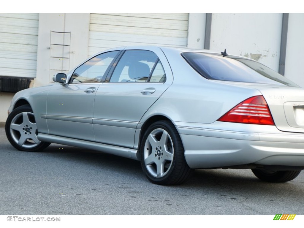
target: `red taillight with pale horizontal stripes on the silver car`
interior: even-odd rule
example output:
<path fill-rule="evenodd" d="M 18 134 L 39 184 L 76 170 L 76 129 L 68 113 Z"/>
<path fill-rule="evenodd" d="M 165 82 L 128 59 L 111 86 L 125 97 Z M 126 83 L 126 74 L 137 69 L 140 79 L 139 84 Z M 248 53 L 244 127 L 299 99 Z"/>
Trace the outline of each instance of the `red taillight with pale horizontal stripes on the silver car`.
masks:
<path fill-rule="evenodd" d="M 223 115 L 218 121 L 275 125 L 265 98 L 250 97 Z"/>

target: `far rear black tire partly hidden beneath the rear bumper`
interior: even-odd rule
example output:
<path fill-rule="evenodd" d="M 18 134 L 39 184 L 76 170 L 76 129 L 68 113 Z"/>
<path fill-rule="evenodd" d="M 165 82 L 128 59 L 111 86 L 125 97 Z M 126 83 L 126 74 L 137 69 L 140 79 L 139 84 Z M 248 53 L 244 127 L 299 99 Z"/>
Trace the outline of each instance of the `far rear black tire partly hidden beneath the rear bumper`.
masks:
<path fill-rule="evenodd" d="M 301 171 L 299 170 L 284 170 L 270 171 L 264 169 L 252 169 L 254 175 L 262 181 L 267 182 L 287 182 L 295 179 Z"/>

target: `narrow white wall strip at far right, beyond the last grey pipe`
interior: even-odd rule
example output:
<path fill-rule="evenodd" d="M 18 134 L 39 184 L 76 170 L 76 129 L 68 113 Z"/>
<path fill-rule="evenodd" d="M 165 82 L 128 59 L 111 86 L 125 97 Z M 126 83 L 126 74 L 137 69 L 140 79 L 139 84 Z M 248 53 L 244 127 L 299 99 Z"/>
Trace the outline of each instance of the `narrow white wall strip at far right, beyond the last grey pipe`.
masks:
<path fill-rule="evenodd" d="M 304 14 L 290 13 L 285 61 L 285 77 L 304 87 Z"/>

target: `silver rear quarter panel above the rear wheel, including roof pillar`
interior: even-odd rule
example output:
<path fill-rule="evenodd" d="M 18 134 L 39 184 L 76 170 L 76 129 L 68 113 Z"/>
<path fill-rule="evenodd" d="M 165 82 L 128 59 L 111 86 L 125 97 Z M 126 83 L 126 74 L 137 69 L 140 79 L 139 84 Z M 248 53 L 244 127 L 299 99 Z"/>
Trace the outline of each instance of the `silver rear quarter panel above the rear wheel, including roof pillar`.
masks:
<path fill-rule="evenodd" d="M 213 123 L 238 103 L 261 95 L 255 88 L 203 78 L 176 50 L 164 50 L 164 53 L 173 73 L 173 83 L 140 122 L 164 115 L 174 122 Z"/>

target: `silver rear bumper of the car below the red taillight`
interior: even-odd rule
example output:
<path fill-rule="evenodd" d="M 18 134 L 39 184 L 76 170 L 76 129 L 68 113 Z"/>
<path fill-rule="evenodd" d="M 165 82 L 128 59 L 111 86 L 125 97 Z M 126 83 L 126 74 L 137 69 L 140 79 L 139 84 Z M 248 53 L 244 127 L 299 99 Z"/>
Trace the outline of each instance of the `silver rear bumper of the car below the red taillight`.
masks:
<path fill-rule="evenodd" d="M 304 134 L 284 133 L 274 126 L 271 133 L 263 132 L 267 127 L 256 133 L 177 125 L 191 168 L 257 164 L 304 169 Z"/>

